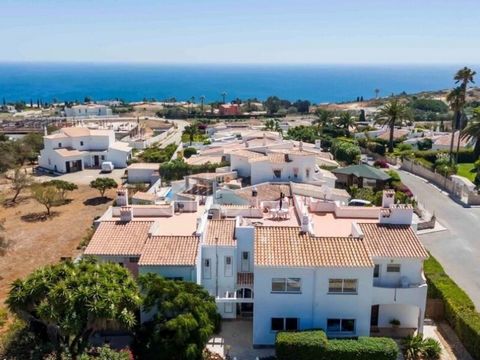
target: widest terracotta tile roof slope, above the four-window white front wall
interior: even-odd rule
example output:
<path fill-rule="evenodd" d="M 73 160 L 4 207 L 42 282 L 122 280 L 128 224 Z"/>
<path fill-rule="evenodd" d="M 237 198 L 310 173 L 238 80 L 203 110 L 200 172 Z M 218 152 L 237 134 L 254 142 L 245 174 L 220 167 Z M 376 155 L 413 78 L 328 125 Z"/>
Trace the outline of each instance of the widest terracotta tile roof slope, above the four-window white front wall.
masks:
<path fill-rule="evenodd" d="M 273 267 L 373 267 L 364 241 L 315 237 L 298 227 L 255 228 L 255 265 Z"/>

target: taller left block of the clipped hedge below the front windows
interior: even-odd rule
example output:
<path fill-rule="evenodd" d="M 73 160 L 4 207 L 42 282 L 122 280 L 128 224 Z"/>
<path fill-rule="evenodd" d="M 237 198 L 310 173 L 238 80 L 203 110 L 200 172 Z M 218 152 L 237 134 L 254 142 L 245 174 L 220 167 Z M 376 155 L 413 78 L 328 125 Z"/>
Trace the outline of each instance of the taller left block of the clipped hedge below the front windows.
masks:
<path fill-rule="evenodd" d="M 325 332 L 299 331 L 279 332 L 275 339 L 275 353 L 278 360 L 316 359 L 327 347 Z"/>

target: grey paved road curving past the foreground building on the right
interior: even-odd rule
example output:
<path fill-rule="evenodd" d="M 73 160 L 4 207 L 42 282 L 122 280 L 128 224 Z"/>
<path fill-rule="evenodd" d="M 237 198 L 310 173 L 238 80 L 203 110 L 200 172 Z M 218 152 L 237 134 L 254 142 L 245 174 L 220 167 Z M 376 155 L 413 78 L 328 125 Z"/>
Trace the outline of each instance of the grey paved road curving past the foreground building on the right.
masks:
<path fill-rule="evenodd" d="M 480 208 L 465 208 L 425 180 L 399 173 L 425 208 L 448 229 L 421 235 L 422 242 L 480 309 Z"/>

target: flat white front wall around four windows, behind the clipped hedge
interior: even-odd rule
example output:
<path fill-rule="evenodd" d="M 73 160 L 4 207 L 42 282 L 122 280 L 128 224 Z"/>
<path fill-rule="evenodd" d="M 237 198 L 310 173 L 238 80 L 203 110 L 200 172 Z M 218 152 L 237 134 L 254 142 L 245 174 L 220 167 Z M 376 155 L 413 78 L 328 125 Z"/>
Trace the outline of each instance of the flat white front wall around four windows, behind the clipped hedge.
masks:
<path fill-rule="evenodd" d="M 272 345 L 272 317 L 295 317 L 300 329 L 326 329 L 328 318 L 355 319 L 355 334 L 370 333 L 372 268 L 264 268 L 255 267 L 253 343 Z M 298 277 L 300 294 L 273 294 L 274 277 Z M 358 294 L 328 294 L 328 280 L 358 279 Z"/>

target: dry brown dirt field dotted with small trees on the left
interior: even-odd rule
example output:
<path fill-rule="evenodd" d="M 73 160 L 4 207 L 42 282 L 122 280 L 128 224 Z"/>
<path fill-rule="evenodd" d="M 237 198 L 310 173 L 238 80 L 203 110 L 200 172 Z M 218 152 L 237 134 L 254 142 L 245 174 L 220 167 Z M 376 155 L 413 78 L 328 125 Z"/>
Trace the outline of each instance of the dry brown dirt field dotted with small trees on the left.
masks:
<path fill-rule="evenodd" d="M 2 196 L 11 198 L 5 185 Z M 76 250 L 95 216 L 100 216 L 112 203 L 114 192 L 107 193 L 108 201 L 87 201 L 99 196 L 97 190 L 79 185 L 67 196 L 71 202 L 52 208 L 53 215 L 41 218 L 45 208 L 22 193 L 17 205 L 0 205 L 0 220 L 4 219 L 5 236 L 11 242 L 5 256 L 0 257 L 0 307 L 5 301 L 10 284 L 33 270 L 60 261 L 61 257 L 75 257 Z M 100 199 L 97 199 L 100 200 Z M 85 202 L 85 203 L 84 203 Z"/>

